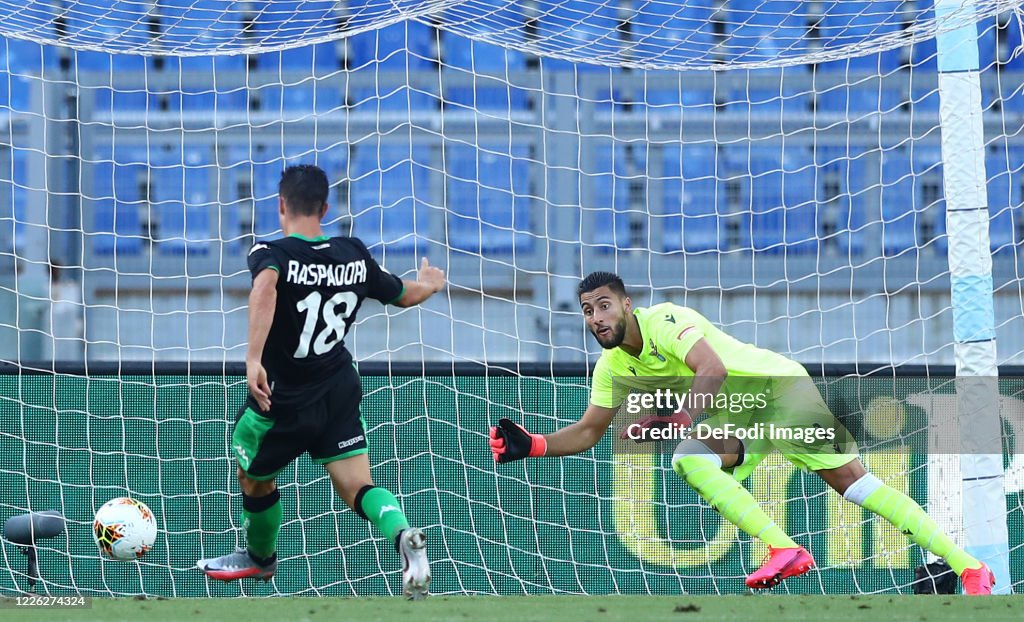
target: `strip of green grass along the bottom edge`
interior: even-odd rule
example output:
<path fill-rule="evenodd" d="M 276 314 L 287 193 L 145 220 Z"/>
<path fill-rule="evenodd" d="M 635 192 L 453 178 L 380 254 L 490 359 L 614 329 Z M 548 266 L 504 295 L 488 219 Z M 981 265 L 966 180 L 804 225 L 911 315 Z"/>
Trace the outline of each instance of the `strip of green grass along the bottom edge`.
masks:
<path fill-rule="evenodd" d="M 224 620 L 228 622 L 352 622 L 369 620 L 486 620 L 487 622 L 886 622 L 907 620 L 1018 621 L 1017 596 L 434 596 L 423 603 L 400 598 L 94 598 L 90 609 L 12 609 L 13 620 Z"/>

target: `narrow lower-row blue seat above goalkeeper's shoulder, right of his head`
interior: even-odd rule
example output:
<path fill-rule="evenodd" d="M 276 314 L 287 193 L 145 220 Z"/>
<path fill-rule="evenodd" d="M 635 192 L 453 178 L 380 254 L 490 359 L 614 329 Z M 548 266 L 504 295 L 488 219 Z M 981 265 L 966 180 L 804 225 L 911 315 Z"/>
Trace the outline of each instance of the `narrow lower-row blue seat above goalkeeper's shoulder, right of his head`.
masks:
<path fill-rule="evenodd" d="M 652 183 L 662 190 L 664 250 L 695 253 L 720 248 L 717 159 L 716 149 L 702 144 L 662 150 L 662 175 Z"/>

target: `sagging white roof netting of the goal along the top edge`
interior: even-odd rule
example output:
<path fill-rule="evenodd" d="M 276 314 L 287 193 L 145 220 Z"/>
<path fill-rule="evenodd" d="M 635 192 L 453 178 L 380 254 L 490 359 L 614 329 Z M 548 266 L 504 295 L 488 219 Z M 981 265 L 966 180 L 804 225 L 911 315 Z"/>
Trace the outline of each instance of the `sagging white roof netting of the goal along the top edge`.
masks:
<path fill-rule="evenodd" d="M 33 0 L 0 3 L 0 34 L 109 52 L 252 53 L 420 17 L 574 63 L 727 70 L 893 49 L 1019 5 L 978 0 L 939 19 L 924 0 Z"/>

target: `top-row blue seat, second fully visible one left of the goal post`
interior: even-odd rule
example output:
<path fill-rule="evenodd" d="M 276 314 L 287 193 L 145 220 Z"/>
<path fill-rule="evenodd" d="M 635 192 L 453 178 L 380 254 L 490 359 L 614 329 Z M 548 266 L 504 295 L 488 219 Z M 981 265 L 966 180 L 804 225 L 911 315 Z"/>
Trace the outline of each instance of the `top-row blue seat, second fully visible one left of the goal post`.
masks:
<path fill-rule="evenodd" d="M 807 47 L 807 9 L 794 0 L 732 0 L 726 60 L 759 61 L 799 55 Z M 794 69 L 807 69 L 800 65 Z"/>

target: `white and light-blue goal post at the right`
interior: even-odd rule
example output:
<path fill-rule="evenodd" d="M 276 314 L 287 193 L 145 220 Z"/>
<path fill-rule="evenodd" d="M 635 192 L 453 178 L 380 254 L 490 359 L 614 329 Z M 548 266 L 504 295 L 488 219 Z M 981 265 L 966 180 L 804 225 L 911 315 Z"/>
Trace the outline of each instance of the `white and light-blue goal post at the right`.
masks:
<path fill-rule="evenodd" d="M 940 33 L 937 40 L 964 495 L 963 543 L 968 552 L 995 573 L 993 591 L 1010 593 L 978 26 L 974 19 L 966 19 L 974 12 L 974 0 L 938 0 L 935 4 L 940 23 L 944 18 L 968 22 Z"/>

